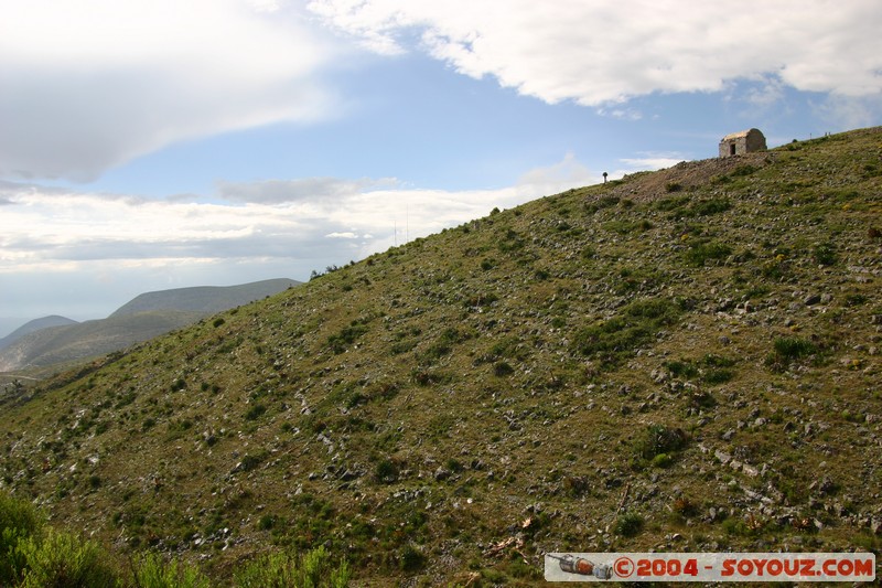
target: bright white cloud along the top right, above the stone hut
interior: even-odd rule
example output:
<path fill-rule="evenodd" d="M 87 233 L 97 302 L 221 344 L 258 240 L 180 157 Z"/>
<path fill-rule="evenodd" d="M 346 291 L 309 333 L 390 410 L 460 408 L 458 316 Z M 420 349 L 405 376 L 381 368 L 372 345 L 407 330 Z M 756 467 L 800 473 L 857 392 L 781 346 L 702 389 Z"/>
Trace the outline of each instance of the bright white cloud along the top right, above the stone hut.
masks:
<path fill-rule="evenodd" d="M 309 8 L 379 53 L 407 51 L 419 33 L 419 46 L 458 72 L 492 75 L 551 104 L 603 106 L 762 77 L 841 96 L 882 92 L 876 0 L 314 0 Z"/>

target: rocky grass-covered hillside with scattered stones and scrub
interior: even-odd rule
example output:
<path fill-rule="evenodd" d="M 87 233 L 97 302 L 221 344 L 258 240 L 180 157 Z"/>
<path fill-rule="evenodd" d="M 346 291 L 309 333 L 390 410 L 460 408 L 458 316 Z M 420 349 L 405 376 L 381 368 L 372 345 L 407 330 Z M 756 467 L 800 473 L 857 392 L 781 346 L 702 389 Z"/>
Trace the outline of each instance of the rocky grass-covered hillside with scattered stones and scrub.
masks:
<path fill-rule="evenodd" d="M 880 193 L 874 128 L 494 211 L 10 400 L 0 487 L 218 581 L 878 553 Z"/>

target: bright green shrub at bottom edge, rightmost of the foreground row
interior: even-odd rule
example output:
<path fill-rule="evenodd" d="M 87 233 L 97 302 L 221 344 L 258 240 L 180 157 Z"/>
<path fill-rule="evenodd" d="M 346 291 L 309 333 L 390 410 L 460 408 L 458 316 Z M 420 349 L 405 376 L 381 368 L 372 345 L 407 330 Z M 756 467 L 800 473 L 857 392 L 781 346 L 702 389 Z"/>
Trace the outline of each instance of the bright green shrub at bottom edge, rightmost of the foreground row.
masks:
<path fill-rule="evenodd" d="M 239 568 L 234 575 L 238 588 L 343 588 L 348 586 L 352 569 L 347 562 L 337 566 L 324 547 L 302 557 L 272 553 Z"/>

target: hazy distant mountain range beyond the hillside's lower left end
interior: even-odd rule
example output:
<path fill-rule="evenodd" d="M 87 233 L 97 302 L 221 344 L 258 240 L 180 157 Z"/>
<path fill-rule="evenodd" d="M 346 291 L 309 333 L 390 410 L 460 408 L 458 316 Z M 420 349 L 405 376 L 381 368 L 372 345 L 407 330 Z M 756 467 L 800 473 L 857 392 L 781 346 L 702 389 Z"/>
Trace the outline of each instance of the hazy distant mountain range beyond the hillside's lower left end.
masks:
<path fill-rule="evenodd" d="M 67 322 L 56 320 L 44 324 L 49 328 L 34 327 L 18 334 L 6 348 L 0 348 L 0 372 L 67 363 L 119 351 L 298 284 L 289 279 L 273 279 L 228 287 L 176 288 L 140 295 L 107 319 L 76 323 L 56 317 Z"/>

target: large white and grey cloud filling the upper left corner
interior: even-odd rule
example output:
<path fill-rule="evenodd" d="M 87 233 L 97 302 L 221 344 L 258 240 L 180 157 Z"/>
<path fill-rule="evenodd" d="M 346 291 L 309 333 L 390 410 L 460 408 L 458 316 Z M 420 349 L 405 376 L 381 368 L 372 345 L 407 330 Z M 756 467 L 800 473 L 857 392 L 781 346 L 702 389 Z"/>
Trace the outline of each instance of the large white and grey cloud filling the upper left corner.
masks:
<path fill-rule="evenodd" d="M 269 0 L 0 0 L 0 174 L 92 179 L 175 141 L 327 116 L 329 47 Z"/>

